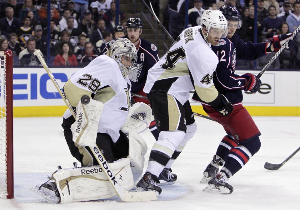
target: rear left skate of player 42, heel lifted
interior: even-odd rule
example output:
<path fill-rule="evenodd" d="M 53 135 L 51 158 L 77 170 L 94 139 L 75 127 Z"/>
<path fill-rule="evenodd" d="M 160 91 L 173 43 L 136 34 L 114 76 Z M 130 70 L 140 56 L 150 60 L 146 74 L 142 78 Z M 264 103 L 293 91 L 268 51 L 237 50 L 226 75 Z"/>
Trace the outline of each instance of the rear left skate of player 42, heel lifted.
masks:
<path fill-rule="evenodd" d="M 213 155 L 212 161 L 203 171 L 203 178 L 201 179 L 200 183 L 208 183 L 209 180 L 217 175 L 217 173 L 219 172 L 219 167 L 221 165 L 223 165 L 222 158 L 220 158 L 218 155 Z"/>

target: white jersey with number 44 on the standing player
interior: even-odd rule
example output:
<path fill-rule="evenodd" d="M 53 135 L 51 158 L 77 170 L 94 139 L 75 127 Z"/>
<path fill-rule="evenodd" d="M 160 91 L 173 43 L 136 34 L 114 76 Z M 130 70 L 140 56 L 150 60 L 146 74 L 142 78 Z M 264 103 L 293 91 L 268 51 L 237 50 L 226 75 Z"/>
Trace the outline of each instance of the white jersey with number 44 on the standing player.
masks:
<path fill-rule="evenodd" d="M 183 30 L 168 52 L 148 71 L 144 92 L 163 91 L 181 104 L 196 90 L 205 102 L 217 98 L 212 83 L 218 58 L 203 39 L 200 26 Z"/>

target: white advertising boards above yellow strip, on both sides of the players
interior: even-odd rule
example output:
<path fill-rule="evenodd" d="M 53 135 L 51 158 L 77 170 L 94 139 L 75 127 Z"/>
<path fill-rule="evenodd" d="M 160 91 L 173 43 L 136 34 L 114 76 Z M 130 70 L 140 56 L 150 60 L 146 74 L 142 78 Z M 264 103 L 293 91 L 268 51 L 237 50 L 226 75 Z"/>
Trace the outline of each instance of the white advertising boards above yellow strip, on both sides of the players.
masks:
<path fill-rule="evenodd" d="M 63 87 L 68 78 L 80 68 L 51 68 L 58 84 Z M 259 71 L 236 71 L 257 75 Z M 266 71 L 260 90 L 253 94 L 243 91 L 245 106 L 300 106 L 300 72 Z M 191 94 L 192 96 L 192 94 Z M 14 107 L 62 106 L 64 102 L 43 68 L 13 69 Z M 192 102 L 192 105 L 198 105 Z"/>

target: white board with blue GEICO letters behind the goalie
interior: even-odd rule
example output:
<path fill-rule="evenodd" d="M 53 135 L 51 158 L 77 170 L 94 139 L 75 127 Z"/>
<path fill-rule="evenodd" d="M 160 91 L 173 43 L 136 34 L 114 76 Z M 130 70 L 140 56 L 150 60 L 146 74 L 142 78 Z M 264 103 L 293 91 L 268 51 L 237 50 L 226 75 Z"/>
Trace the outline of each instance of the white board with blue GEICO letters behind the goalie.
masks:
<path fill-rule="evenodd" d="M 80 68 L 50 68 L 61 88 Z M 13 69 L 13 106 L 65 105 L 44 68 Z"/>

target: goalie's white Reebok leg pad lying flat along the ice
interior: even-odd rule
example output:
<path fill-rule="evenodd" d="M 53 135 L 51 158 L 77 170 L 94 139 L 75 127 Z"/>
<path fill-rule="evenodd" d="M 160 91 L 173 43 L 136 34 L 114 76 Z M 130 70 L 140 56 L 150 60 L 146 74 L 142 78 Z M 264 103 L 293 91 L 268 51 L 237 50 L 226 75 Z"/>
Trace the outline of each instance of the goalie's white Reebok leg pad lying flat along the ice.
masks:
<path fill-rule="evenodd" d="M 124 189 L 133 188 L 129 158 L 109 163 L 109 166 Z M 61 203 L 91 201 L 117 195 L 99 165 L 60 169 L 53 174 L 53 177 L 60 194 Z"/>

